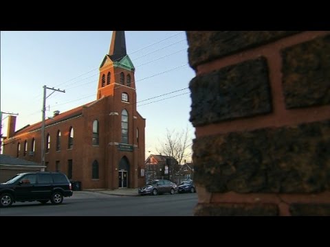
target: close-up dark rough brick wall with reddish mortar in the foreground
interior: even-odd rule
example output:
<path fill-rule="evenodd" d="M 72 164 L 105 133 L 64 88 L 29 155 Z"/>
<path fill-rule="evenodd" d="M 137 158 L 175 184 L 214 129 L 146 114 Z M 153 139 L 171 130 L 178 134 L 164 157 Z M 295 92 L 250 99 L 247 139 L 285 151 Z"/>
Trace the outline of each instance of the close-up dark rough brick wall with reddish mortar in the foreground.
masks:
<path fill-rule="evenodd" d="M 186 34 L 195 215 L 330 215 L 330 32 Z"/>

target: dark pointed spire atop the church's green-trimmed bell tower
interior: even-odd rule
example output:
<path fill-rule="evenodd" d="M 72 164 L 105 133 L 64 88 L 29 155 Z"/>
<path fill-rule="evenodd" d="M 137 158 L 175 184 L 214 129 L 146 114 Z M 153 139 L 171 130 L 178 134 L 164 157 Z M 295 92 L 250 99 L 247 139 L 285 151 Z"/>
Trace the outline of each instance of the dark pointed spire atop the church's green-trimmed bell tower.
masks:
<path fill-rule="evenodd" d="M 109 56 L 113 62 L 118 62 L 126 56 L 126 42 L 124 31 L 113 31 Z"/>

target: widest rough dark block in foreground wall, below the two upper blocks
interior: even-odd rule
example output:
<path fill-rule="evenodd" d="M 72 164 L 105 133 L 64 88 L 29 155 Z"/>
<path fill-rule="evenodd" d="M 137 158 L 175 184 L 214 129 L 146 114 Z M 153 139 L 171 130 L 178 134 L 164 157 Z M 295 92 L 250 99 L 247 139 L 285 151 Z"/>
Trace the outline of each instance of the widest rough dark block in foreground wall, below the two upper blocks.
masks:
<path fill-rule="evenodd" d="M 330 120 L 200 137 L 192 150 L 194 180 L 209 192 L 330 189 Z"/>

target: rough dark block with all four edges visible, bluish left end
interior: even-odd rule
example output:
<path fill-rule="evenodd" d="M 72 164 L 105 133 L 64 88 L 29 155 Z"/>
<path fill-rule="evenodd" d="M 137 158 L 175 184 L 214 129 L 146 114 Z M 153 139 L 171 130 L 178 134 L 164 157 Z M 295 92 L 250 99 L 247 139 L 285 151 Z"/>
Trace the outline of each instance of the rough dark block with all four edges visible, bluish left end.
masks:
<path fill-rule="evenodd" d="M 194 126 L 272 111 L 267 60 L 263 57 L 199 75 L 189 87 Z"/>

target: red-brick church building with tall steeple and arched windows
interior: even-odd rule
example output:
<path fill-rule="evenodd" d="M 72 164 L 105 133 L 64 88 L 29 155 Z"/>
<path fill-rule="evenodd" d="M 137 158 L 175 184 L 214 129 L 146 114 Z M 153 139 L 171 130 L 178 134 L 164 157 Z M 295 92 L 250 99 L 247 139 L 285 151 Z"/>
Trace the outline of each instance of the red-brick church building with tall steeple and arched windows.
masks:
<path fill-rule="evenodd" d="M 113 31 L 100 64 L 96 100 L 45 120 L 45 165 L 81 182 L 83 189 L 144 185 L 144 129 L 136 110 L 135 68 L 126 54 L 124 31 Z M 41 163 L 42 122 L 15 132 L 8 119 L 3 154 Z"/>

